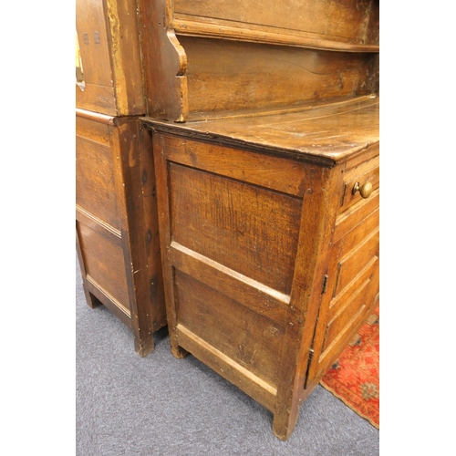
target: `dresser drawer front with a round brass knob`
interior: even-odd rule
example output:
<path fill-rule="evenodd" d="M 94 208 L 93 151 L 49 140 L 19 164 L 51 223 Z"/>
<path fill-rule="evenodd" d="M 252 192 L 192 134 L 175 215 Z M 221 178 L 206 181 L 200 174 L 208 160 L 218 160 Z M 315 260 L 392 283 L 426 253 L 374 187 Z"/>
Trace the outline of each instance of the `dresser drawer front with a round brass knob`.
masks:
<path fill-rule="evenodd" d="M 358 201 L 371 198 L 379 185 L 379 156 L 347 170 L 339 212 L 347 211 L 350 206 Z"/>

